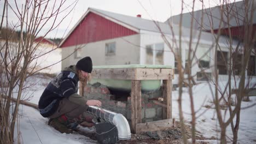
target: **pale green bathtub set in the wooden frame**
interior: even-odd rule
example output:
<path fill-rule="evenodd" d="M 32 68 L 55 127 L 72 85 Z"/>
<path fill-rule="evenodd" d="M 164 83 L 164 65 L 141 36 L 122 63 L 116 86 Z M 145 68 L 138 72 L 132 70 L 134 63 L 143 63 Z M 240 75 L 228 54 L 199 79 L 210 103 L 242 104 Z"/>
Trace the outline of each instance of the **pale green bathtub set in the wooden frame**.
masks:
<path fill-rule="evenodd" d="M 170 65 L 140 65 L 140 64 L 130 64 L 130 65 L 103 65 L 94 66 L 94 69 L 115 69 L 115 68 L 172 68 Z M 131 80 L 114 80 L 114 79 L 94 79 L 89 82 L 94 84 L 100 82 L 106 85 L 110 89 L 118 89 L 120 91 L 131 91 Z M 161 80 L 141 80 L 142 91 L 155 91 L 161 86 Z"/>

